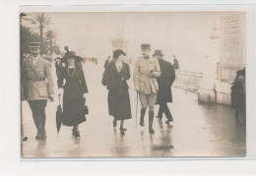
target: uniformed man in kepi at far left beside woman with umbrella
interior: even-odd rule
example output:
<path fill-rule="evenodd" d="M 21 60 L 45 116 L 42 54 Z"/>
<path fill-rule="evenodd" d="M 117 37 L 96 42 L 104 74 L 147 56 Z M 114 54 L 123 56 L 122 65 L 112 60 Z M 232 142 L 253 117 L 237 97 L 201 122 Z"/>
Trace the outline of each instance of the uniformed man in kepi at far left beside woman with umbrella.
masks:
<path fill-rule="evenodd" d="M 31 42 L 31 56 L 22 64 L 22 99 L 27 99 L 37 129 L 36 140 L 46 139 L 45 106 L 47 99 L 53 101 L 53 81 L 50 63 L 40 57 L 40 43 Z"/>

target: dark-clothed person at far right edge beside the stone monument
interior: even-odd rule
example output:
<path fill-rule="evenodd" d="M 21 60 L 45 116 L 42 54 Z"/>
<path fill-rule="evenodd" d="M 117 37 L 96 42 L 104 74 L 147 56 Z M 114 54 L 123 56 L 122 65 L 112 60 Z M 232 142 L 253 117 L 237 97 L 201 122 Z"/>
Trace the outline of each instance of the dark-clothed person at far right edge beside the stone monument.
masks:
<path fill-rule="evenodd" d="M 237 125 L 244 125 L 245 119 L 245 68 L 236 72 L 234 83 L 231 87 L 231 108 L 235 109 Z"/>

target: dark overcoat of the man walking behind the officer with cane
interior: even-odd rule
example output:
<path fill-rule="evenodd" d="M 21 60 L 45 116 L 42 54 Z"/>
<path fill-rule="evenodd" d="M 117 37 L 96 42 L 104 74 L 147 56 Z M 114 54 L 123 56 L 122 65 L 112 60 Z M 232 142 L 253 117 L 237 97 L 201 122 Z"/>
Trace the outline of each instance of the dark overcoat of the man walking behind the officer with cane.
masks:
<path fill-rule="evenodd" d="M 158 78 L 159 92 L 157 95 L 157 103 L 172 102 L 171 85 L 175 80 L 175 72 L 171 63 L 159 60 L 160 63 L 160 78 Z"/>

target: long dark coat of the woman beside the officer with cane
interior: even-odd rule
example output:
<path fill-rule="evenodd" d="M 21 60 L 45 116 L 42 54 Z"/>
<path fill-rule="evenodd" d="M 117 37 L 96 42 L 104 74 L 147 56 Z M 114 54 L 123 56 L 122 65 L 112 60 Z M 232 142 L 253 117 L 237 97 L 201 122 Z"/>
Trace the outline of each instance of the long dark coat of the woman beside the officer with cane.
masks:
<path fill-rule="evenodd" d="M 117 71 L 115 63 L 110 63 L 103 73 L 102 85 L 108 90 L 108 112 L 116 120 L 131 119 L 131 103 L 127 80 L 131 78 L 129 65 L 122 63 Z"/>

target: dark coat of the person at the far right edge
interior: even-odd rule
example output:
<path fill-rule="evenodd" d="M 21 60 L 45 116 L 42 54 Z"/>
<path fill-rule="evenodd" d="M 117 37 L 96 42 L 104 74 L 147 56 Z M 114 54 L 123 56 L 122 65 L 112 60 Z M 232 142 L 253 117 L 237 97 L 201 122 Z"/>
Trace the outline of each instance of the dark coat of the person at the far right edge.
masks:
<path fill-rule="evenodd" d="M 231 87 L 231 108 L 245 108 L 245 94 L 243 92 L 242 83 L 235 81 Z"/>

